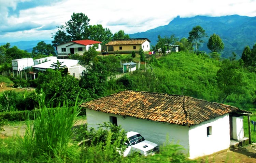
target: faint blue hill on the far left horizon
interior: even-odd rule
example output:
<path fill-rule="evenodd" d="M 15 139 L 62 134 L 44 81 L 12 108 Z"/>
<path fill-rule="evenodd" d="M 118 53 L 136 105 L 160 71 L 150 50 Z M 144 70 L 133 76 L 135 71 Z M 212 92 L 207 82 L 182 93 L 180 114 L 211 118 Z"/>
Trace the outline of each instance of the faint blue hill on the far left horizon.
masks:
<path fill-rule="evenodd" d="M 37 46 L 38 42 L 44 41 L 46 44 L 52 44 L 52 40 L 33 40 L 33 41 L 18 41 L 18 42 L 9 42 L 11 47 L 17 46 L 21 50 L 26 50 L 32 52 L 33 47 Z M 7 42 L 1 42 L 1 45 L 6 44 Z"/>

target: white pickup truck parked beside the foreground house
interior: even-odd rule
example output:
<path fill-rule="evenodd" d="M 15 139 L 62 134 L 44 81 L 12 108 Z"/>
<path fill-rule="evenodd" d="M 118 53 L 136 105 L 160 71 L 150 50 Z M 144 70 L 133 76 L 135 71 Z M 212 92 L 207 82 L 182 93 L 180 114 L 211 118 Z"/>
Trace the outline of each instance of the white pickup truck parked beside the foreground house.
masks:
<path fill-rule="evenodd" d="M 124 157 L 133 152 L 139 152 L 143 156 L 154 155 L 159 151 L 156 143 L 145 140 L 138 132 L 130 131 L 127 133 L 128 140 L 125 142 L 127 148 L 124 151 Z"/>

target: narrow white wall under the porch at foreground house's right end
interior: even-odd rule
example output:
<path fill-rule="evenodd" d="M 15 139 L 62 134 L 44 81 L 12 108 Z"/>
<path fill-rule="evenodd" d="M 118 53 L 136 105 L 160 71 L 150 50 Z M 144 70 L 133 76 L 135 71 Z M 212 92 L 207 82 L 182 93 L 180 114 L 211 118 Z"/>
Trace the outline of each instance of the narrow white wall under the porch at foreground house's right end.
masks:
<path fill-rule="evenodd" d="M 243 116 L 232 117 L 233 121 L 233 139 L 240 140 L 244 137 Z"/>

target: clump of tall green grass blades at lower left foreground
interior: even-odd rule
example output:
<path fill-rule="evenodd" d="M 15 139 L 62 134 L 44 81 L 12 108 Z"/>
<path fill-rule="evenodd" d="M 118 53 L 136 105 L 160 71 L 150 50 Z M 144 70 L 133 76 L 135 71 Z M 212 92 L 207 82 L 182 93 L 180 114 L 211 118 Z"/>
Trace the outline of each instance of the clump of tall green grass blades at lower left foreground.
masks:
<path fill-rule="evenodd" d="M 20 147 L 29 159 L 38 158 L 40 162 L 74 162 L 79 158 L 78 148 L 72 144 L 72 127 L 76 122 L 76 106 L 40 108 L 35 115 L 33 127 L 27 124 L 27 131 L 20 139 Z"/>

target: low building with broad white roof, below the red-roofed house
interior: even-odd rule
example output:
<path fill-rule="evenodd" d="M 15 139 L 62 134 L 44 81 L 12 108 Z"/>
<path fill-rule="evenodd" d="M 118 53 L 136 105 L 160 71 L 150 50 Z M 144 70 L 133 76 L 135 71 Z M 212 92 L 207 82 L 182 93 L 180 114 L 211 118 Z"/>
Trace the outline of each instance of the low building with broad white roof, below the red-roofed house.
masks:
<path fill-rule="evenodd" d="M 63 62 L 62 65 L 66 65 L 68 72 L 70 75 L 74 76 L 75 78 L 80 78 L 82 76 L 83 71 L 86 70 L 85 67 L 78 64 L 78 60 L 75 59 L 52 59 L 47 62 L 43 62 L 42 64 L 34 65 L 33 69 L 38 72 L 44 72 L 46 69 L 54 69 L 52 64 L 56 63 L 57 60 L 59 62 Z"/>

